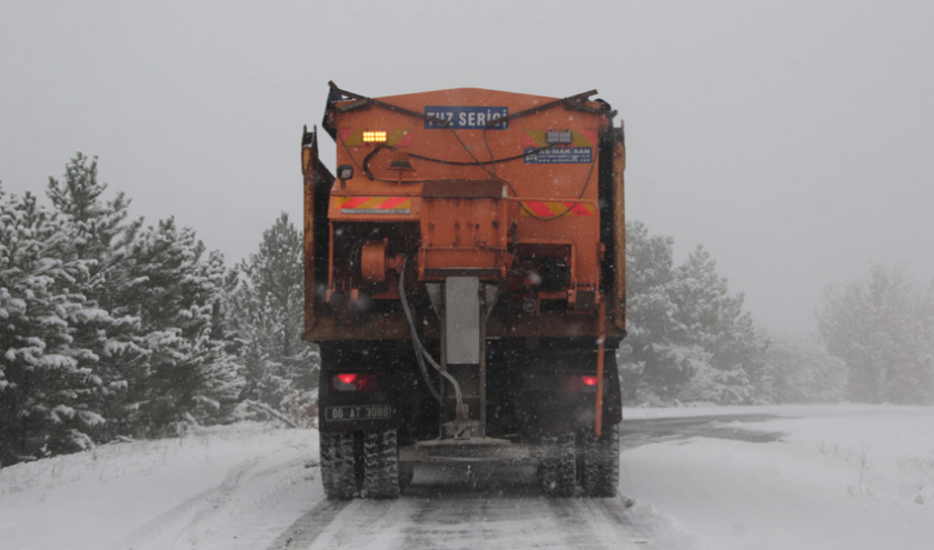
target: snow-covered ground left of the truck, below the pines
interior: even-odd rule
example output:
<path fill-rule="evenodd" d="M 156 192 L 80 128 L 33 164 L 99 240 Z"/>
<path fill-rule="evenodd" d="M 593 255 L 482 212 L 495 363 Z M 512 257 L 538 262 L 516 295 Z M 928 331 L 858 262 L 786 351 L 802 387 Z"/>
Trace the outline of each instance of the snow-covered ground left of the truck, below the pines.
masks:
<path fill-rule="evenodd" d="M 0 470 L 11 549 L 257 549 L 322 498 L 315 430 L 262 424 L 105 446 Z"/>

